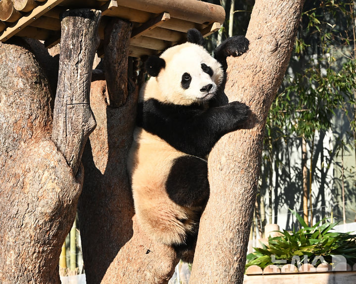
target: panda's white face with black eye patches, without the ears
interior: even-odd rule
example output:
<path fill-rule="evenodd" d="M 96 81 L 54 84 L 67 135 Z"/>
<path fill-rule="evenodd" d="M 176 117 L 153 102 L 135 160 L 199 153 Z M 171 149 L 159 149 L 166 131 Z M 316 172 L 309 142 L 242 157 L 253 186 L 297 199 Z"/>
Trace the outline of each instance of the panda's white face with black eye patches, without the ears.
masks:
<path fill-rule="evenodd" d="M 160 58 L 164 60 L 164 67 L 157 77 L 150 79 L 151 86 L 147 88 L 154 89 L 149 97 L 160 101 L 177 105 L 203 104 L 215 95 L 223 79 L 220 63 L 200 45 L 190 42 L 176 45 Z"/>

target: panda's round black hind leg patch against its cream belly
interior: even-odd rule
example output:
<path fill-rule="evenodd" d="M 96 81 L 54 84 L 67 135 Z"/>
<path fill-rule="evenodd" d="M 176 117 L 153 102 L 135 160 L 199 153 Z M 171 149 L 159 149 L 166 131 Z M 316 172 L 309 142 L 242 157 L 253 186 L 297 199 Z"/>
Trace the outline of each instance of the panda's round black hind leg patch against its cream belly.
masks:
<path fill-rule="evenodd" d="M 209 197 L 207 162 L 189 155 L 175 159 L 165 186 L 174 203 L 187 207 L 203 205 Z"/>

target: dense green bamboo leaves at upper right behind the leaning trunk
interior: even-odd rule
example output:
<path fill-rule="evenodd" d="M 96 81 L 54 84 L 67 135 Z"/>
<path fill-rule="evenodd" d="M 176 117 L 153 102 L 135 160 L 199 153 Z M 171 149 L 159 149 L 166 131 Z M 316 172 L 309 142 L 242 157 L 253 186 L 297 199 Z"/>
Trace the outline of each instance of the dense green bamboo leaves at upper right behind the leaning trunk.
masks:
<path fill-rule="evenodd" d="M 350 18 L 351 4 L 334 0 L 305 4 L 309 9 L 303 12 L 292 57 L 300 70 L 286 76 L 268 116 L 267 134 L 272 130 L 268 127 L 273 132 L 279 128 L 275 140 L 293 134 L 308 140 L 315 130 L 332 126 L 336 110 L 355 104 L 355 58 L 334 55 L 349 45 L 348 31 L 335 19 Z"/>

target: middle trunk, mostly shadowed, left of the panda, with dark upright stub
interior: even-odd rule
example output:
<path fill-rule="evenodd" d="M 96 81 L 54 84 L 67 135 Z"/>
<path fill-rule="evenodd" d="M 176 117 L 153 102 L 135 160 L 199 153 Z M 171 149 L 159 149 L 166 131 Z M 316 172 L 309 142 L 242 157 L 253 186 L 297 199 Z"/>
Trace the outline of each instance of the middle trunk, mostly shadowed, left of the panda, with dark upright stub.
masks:
<path fill-rule="evenodd" d="M 105 51 L 105 74 L 116 69 L 117 76 L 126 77 L 127 57 L 119 64 L 115 61 L 120 56 L 118 52 L 127 52 L 131 28 L 120 20 L 113 25 L 108 28 L 114 31 L 110 44 L 112 48 L 120 46 L 120 50 Z M 167 283 L 178 262 L 174 250 L 153 243 L 140 230 L 134 216 L 126 160 L 138 91 L 130 91 L 127 82 L 127 78 L 107 80 L 106 84 L 95 81 L 91 88 L 97 128 L 83 154 L 86 174 L 78 206 L 83 259 L 87 282 L 91 284 Z"/>

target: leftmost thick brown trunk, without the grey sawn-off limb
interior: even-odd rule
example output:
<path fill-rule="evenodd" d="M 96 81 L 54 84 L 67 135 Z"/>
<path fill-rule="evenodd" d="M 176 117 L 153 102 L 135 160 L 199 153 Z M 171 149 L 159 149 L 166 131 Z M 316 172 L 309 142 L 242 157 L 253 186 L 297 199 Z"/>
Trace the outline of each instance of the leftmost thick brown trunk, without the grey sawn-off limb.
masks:
<path fill-rule="evenodd" d="M 59 284 L 83 183 L 51 141 L 51 93 L 27 47 L 0 44 L 0 283 Z"/>

